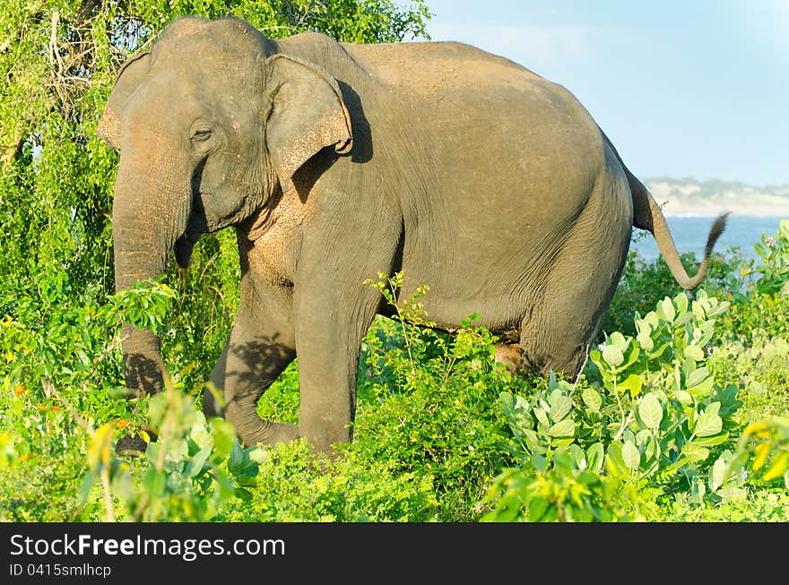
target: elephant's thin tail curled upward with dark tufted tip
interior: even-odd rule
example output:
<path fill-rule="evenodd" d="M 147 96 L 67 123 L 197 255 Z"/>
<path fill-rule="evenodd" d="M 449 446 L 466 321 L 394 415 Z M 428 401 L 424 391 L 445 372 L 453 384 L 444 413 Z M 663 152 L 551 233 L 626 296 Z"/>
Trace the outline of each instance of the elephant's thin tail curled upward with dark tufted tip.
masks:
<path fill-rule="evenodd" d="M 707 267 L 709 266 L 709 256 L 712 254 L 712 248 L 715 241 L 723 233 L 726 227 L 726 217 L 728 212 L 722 213 L 715 219 L 712 229 L 709 231 L 707 237 L 707 246 L 704 248 L 704 258 L 698 266 L 696 276 L 690 278 L 685 267 L 682 266 L 680 261 L 680 254 L 677 252 L 677 246 L 674 245 L 672 233 L 669 231 L 668 224 L 666 223 L 663 211 L 660 206 L 655 202 L 652 194 L 646 189 L 641 181 L 634 176 L 627 167 L 622 165 L 625 174 L 628 176 L 628 183 L 630 185 L 630 193 L 633 195 L 633 225 L 639 229 L 646 229 L 655 237 L 657 247 L 660 253 L 663 254 L 663 260 L 668 264 L 669 270 L 677 282 L 680 283 L 682 288 L 696 288 L 704 280 L 707 274 Z"/>

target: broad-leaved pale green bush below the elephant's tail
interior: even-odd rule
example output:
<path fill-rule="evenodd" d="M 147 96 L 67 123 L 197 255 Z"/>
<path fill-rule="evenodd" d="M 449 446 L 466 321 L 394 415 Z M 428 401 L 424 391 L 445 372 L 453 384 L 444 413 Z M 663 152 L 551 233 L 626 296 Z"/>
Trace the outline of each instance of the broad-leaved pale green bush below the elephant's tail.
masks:
<path fill-rule="evenodd" d="M 715 452 L 738 428 L 740 402 L 735 386 L 715 384 L 707 344 L 727 308 L 703 290 L 665 297 L 637 316 L 635 338 L 614 332 L 592 350 L 591 384 L 504 392 L 519 468 L 492 486 L 487 519 L 645 520 L 659 494 L 724 498 L 732 455 Z"/>

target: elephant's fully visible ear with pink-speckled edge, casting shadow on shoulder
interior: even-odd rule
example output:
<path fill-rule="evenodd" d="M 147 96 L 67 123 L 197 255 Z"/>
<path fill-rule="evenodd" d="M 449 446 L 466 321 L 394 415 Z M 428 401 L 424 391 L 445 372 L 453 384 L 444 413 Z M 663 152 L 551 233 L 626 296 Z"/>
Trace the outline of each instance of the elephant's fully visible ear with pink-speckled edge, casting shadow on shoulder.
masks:
<path fill-rule="evenodd" d="M 270 102 L 265 143 L 282 193 L 293 173 L 327 146 L 351 151 L 351 116 L 336 80 L 300 59 L 282 54 L 265 60 Z"/>

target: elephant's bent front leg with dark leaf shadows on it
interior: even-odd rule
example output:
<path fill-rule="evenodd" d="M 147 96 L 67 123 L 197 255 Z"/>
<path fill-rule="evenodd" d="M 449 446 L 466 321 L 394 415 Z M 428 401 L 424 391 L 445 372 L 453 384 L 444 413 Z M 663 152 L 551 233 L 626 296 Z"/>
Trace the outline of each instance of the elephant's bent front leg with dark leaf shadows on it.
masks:
<path fill-rule="evenodd" d="M 299 436 L 296 425 L 264 420 L 256 411 L 257 400 L 296 355 L 290 307 L 273 300 L 264 297 L 266 306 L 254 307 L 242 295 L 230 340 L 212 374 L 212 383 L 224 393 L 224 417 L 246 445 L 287 443 Z M 274 310 L 278 305 L 280 310 Z M 206 414 L 211 407 L 204 397 Z"/>

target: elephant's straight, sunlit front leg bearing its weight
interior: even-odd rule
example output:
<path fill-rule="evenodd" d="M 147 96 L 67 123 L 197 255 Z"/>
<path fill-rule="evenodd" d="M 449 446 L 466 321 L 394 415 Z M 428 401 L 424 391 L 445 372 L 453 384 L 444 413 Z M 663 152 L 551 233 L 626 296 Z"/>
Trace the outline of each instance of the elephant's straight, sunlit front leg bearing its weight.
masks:
<path fill-rule="evenodd" d="M 399 235 L 399 223 L 393 224 L 397 232 L 392 225 L 334 232 L 326 237 L 333 254 L 325 254 L 321 245 L 302 248 L 293 297 L 299 436 L 317 452 L 333 454 L 333 443 L 351 441 L 360 344 L 380 302 L 380 293 L 365 280 L 391 270 Z M 361 233 L 376 239 L 353 242 L 343 237 Z"/>

